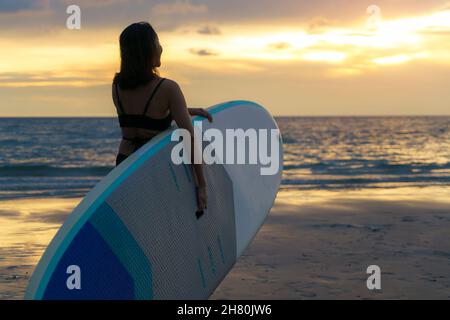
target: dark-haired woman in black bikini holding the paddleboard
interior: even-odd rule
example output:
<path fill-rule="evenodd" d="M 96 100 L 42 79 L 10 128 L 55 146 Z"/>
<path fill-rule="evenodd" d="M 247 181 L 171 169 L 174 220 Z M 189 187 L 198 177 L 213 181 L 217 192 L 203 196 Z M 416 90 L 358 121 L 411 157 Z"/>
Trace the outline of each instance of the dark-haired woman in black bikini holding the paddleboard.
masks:
<path fill-rule="evenodd" d="M 172 120 L 179 128 L 188 130 L 191 139 L 194 129 L 189 115 L 204 116 L 212 121 L 206 110 L 187 108 L 175 81 L 159 77 L 156 68 L 161 66 L 162 51 L 155 30 L 146 22 L 133 23 L 120 35 L 120 72 L 114 77 L 112 86 L 122 130 L 116 165 L 166 130 Z M 203 167 L 194 164 L 193 168 L 198 210 L 203 211 L 207 200 Z"/>

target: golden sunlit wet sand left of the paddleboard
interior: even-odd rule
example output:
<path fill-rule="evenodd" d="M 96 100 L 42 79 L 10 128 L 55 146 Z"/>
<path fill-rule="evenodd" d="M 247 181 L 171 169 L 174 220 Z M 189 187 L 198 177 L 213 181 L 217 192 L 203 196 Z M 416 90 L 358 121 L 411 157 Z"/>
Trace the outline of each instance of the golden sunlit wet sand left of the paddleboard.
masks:
<path fill-rule="evenodd" d="M 80 199 L 0 202 L 0 299 L 22 299 L 32 270 Z"/>

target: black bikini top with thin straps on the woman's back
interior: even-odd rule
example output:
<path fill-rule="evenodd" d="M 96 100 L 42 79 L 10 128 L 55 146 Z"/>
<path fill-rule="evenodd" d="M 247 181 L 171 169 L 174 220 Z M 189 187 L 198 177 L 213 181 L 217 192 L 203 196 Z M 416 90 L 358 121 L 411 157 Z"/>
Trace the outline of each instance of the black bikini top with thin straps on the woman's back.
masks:
<path fill-rule="evenodd" d="M 162 119 L 155 119 L 145 115 L 147 113 L 148 107 L 150 106 L 150 102 L 152 101 L 153 97 L 156 94 L 156 91 L 159 89 L 164 80 L 165 80 L 164 78 L 161 79 L 161 81 L 159 81 L 159 83 L 157 84 L 155 90 L 153 90 L 152 94 L 150 95 L 150 98 L 147 101 L 147 104 L 145 105 L 145 109 L 142 114 L 126 114 L 124 112 L 122 103 L 120 102 L 117 84 L 115 85 L 117 103 L 120 110 L 120 114 L 118 114 L 118 116 L 121 128 L 139 128 L 154 131 L 164 131 L 170 127 L 170 124 L 172 122 L 172 115 L 170 113 L 169 115 L 167 115 L 167 117 Z"/>

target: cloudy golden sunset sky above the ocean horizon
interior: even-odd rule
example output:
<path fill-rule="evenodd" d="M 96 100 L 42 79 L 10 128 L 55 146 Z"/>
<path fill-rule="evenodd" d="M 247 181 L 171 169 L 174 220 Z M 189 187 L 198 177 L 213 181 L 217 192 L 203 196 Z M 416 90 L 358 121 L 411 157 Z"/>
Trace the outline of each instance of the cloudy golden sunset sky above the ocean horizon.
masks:
<path fill-rule="evenodd" d="M 0 117 L 115 116 L 118 38 L 137 21 L 190 107 L 450 115 L 448 0 L 0 0 Z"/>

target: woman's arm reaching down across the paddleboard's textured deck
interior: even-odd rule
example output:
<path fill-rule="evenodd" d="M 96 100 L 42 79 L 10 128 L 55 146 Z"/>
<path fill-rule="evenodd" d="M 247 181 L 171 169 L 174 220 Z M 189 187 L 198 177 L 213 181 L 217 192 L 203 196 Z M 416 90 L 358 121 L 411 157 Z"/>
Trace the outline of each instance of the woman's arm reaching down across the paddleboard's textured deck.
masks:
<path fill-rule="evenodd" d="M 206 208 L 207 195 L 206 195 L 206 180 L 203 172 L 202 164 L 194 163 L 194 128 L 192 126 L 191 117 L 186 105 L 183 92 L 178 84 L 172 80 L 167 81 L 169 90 L 169 109 L 172 114 L 172 118 L 175 120 L 179 128 L 189 131 L 191 136 L 191 163 L 194 168 L 195 182 L 197 185 L 197 204 L 198 209 L 203 210 Z"/>

